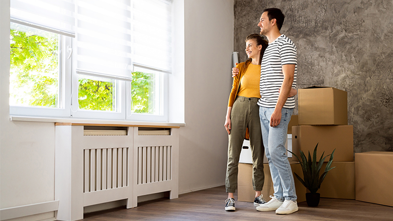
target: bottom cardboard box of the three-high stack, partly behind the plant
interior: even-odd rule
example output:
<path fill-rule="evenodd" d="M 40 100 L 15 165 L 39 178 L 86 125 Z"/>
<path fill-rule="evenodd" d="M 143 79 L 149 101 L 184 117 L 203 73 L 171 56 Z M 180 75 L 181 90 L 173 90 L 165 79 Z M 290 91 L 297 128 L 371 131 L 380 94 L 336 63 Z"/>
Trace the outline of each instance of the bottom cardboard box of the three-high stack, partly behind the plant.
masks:
<path fill-rule="evenodd" d="M 325 171 L 327 162 L 321 168 L 320 175 Z M 321 188 L 321 197 L 336 199 L 355 199 L 355 162 L 333 162 Z M 299 174 L 298 174 L 299 175 Z M 303 177 L 303 174 L 300 175 Z"/>

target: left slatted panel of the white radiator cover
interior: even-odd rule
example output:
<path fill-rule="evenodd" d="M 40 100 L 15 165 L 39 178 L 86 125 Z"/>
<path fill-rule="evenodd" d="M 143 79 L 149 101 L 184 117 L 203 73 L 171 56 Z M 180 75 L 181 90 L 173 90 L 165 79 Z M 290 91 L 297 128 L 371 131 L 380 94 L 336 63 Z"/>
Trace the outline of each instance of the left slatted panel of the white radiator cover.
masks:
<path fill-rule="evenodd" d="M 83 192 L 128 186 L 128 152 L 128 147 L 85 149 L 83 154 Z"/>

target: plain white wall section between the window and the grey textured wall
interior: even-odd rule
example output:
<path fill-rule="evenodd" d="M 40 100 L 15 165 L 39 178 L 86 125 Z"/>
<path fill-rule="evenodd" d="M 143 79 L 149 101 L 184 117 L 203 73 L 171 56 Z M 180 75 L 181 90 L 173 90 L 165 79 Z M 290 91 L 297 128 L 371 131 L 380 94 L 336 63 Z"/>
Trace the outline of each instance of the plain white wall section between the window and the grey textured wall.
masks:
<path fill-rule="evenodd" d="M 225 183 L 233 1 L 185 0 L 184 17 L 186 126 L 180 130 L 179 193 Z"/>

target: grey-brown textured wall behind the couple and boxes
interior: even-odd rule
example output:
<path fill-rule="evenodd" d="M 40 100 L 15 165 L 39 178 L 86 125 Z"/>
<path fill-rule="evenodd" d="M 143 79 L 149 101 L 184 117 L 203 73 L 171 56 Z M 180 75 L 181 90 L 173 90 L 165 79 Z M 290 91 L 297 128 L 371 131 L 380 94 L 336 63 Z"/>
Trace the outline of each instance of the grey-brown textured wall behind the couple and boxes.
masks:
<path fill-rule="evenodd" d="M 265 8 L 285 15 L 281 34 L 298 47 L 298 88 L 348 92 L 354 151 L 393 151 L 393 1 L 235 0 L 234 50 L 240 61 L 246 59 L 244 39 L 259 33 Z"/>

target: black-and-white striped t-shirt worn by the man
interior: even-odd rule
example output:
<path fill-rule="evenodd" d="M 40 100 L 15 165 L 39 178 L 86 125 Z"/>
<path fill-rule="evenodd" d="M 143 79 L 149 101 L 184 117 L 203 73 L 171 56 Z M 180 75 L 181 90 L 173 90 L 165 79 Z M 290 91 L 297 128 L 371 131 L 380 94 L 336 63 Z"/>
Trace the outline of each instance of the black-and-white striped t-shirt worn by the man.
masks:
<path fill-rule="evenodd" d="M 261 93 L 261 98 L 258 100 L 259 106 L 275 107 L 279 95 L 278 89 L 284 80 L 284 74 L 282 73 L 282 65 L 284 64 L 295 65 L 292 88 L 296 88 L 297 48 L 288 37 L 281 35 L 275 41 L 269 43 L 263 54 L 259 81 L 259 92 Z M 288 97 L 283 107 L 294 108 L 294 97 Z"/>

